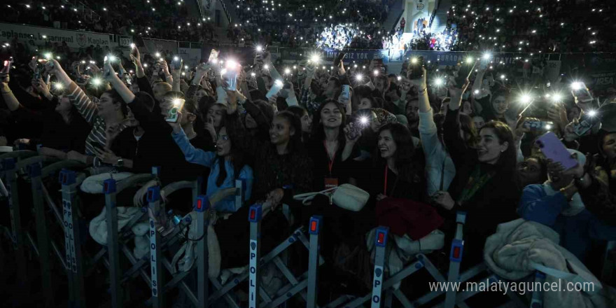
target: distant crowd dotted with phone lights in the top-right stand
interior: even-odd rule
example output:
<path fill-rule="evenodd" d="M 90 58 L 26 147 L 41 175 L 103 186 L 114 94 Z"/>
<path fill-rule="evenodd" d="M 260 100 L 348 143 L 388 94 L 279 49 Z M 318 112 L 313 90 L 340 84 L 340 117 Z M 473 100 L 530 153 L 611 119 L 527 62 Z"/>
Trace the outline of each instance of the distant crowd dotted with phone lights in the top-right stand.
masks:
<path fill-rule="evenodd" d="M 452 1 L 447 28 L 457 29 L 454 50 L 587 52 L 610 50 L 610 1 Z M 613 46 L 611 47 L 613 48 Z"/>

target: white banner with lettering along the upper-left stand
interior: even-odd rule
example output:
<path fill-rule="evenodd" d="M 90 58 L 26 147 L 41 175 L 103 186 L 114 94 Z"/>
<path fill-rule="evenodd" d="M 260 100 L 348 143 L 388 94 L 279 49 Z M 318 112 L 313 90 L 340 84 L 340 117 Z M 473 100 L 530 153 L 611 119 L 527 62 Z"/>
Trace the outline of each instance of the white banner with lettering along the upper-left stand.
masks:
<path fill-rule="evenodd" d="M 115 45 L 111 34 L 0 23 L 0 41 L 11 41 L 13 38 L 22 42 L 33 40 L 36 45 L 43 45 L 46 41 L 66 42 L 69 48 L 87 48 L 90 45 L 111 48 Z"/>

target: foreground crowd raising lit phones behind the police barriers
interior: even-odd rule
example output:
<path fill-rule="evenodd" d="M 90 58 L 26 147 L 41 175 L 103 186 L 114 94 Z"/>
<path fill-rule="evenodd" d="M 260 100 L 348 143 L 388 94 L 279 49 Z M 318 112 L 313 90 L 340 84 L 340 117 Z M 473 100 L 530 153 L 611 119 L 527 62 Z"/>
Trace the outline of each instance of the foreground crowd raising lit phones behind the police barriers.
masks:
<path fill-rule="evenodd" d="M 207 195 L 220 198 L 211 200 L 212 211 L 231 213 L 209 226 L 216 235 L 208 237 L 216 247 L 209 253 L 211 276 L 248 260 L 235 243 L 248 242 L 247 205 L 255 202 L 265 210 L 264 253 L 293 230 L 280 204 L 288 204 L 295 224 L 314 214 L 325 218 L 321 300 L 367 292 L 370 264 L 358 260 L 370 258 L 367 232 L 396 223 L 384 218 L 391 211 L 417 219 L 427 207 L 442 223 L 423 231 L 438 228 L 449 240 L 456 211 L 466 211 L 463 268 L 482 262 L 486 239 L 517 218 L 552 228 L 561 238 L 557 244 L 594 273 L 597 249 L 616 239 L 614 93 L 586 95 L 583 85 L 572 91 L 570 80 L 558 80 L 526 108 L 524 93 L 486 66 L 460 83 L 461 71 L 475 60 L 444 70 L 426 64 L 419 73 L 409 60 L 400 73 L 387 75 L 377 60 L 332 69 L 314 57 L 291 71 L 262 52 L 241 68 L 219 55 L 225 64 L 186 69 L 168 65 L 172 55 L 142 57 L 135 48 L 123 66 L 109 60 L 99 69 L 70 55 L 57 61 L 20 55 L 15 44 L 5 49 L 15 67 L 0 73 L 0 145 L 41 145 L 41 155 L 112 169 L 80 187 L 99 200 L 84 211 L 89 218 L 101 211 L 97 194 L 111 176 L 121 181 L 161 167 L 158 182 L 146 184 L 142 194 L 157 183 L 204 176 Z M 112 59 L 107 50 L 92 51 L 99 64 Z M 237 83 L 223 69 L 237 70 Z M 181 111 L 168 121 L 174 106 Z M 580 123 L 591 124 L 582 130 Z M 542 154 L 535 141 L 545 132 L 561 139 L 575 167 Z M 235 197 L 224 195 L 236 179 L 247 184 L 239 209 Z M 308 207 L 293 200 L 342 184 L 365 190 L 370 200 L 358 211 L 332 207 L 327 197 Z M 191 210 L 186 199 L 167 202 L 176 211 Z M 341 251 L 356 253 L 343 262 L 335 257 Z"/>

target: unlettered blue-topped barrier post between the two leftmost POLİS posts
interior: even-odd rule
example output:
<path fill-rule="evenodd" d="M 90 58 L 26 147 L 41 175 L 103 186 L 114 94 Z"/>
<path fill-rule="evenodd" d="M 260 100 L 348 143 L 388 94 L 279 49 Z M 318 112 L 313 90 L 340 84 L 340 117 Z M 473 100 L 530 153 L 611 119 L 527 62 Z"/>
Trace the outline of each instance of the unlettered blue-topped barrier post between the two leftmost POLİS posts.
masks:
<path fill-rule="evenodd" d="M 111 307 L 123 307 L 122 288 L 120 288 L 120 244 L 118 243 L 118 213 L 116 211 L 116 180 L 107 179 L 103 183 L 107 218 L 107 254 L 109 255 L 109 281 L 111 284 Z"/>

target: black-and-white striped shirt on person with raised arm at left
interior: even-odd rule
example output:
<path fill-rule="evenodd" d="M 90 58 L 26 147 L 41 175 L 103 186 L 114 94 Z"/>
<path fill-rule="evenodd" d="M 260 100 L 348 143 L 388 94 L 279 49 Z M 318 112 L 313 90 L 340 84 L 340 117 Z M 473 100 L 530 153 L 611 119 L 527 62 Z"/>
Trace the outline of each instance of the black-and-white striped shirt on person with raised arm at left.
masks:
<path fill-rule="evenodd" d="M 79 111 L 86 122 L 92 126 L 90 134 L 88 134 L 87 139 L 85 139 L 85 154 L 96 155 L 94 152 L 94 144 L 99 144 L 102 148 L 107 147 L 107 128 L 105 120 L 98 115 L 97 104 L 92 102 L 90 97 L 87 97 L 85 92 L 83 92 L 76 83 L 71 83 L 69 92 L 70 94 L 68 94 L 67 97 L 71 100 L 71 104 L 76 107 L 77 111 Z M 110 133 L 113 133 L 113 136 L 117 136 L 128 126 L 128 121 L 123 121 L 119 125 L 116 125 L 116 127 L 109 127 L 109 130 Z"/>

